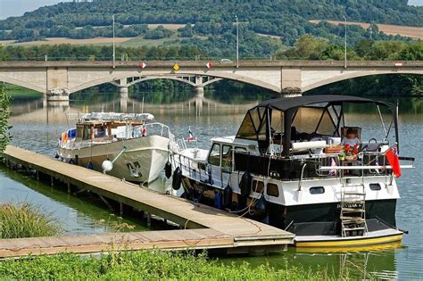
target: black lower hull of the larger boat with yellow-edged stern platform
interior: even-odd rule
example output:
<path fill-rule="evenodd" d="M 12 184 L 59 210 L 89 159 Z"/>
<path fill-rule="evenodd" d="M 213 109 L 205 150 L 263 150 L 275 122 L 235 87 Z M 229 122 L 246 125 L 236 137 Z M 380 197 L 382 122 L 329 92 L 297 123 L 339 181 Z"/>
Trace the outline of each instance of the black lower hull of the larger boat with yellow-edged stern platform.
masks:
<path fill-rule="evenodd" d="M 203 198 L 208 197 L 208 202 L 212 202 L 214 186 L 187 177 L 182 183 L 187 194 L 198 197 L 202 190 Z M 237 194 L 236 197 L 239 199 Z M 251 217 L 294 233 L 296 247 L 360 247 L 402 240 L 403 232 L 395 228 L 395 207 L 396 199 L 366 202 L 366 222 L 369 231 L 364 234 L 353 232 L 347 237 L 341 236 L 340 202 L 297 206 L 268 202 L 267 214 L 257 212 Z M 238 205 L 237 208 L 242 209 L 243 206 Z"/>

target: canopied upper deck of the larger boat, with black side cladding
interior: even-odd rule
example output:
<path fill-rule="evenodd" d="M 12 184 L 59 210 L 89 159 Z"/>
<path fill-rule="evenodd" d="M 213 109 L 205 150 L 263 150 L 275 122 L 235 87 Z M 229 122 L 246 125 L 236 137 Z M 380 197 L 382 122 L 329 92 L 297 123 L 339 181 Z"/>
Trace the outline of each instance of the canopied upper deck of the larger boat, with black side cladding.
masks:
<path fill-rule="evenodd" d="M 372 105 L 378 112 L 382 126 L 379 139 L 362 139 L 361 128 L 345 120 L 348 108 Z M 390 120 L 383 120 L 389 114 Z M 236 170 L 250 170 L 277 178 L 318 177 L 319 166 L 328 166 L 332 159 L 340 165 L 347 138 L 356 140 L 351 156 L 357 160 L 359 152 L 381 152 L 387 145 L 398 144 L 398 116 L 394 104 L 348 95 L 311 95 L 277 98 L 260 103 L 245 114 L 236 133 L 235 143 L 256 145 L 257 153 L 235 155 Z M 348 135 L 348 136 L 347 136 Z M 362 158 L 369 165 L 375 157 Z M 378 156 L 377 156 L 378 157 Z M 382 164 L 385 158 L 380 159 Z M 250 163 L 250 164 L 247 164 Z M 254 165 L 252 165 L 254 163 Z M 304 169 L 304 163 L 308 164 Z M 357 163 L 356 163 L 357 164 Z M 302 175 L 300 175 L 302 174 Z"/>

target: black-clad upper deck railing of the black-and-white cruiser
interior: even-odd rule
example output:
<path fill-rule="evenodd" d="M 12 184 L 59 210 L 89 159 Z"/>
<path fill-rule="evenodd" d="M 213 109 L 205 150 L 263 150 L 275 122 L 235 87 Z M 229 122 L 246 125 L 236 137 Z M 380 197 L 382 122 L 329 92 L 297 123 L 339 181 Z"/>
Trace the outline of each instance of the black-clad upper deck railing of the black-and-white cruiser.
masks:
<path fill-rule="evenodd" d="M 270 178 L 303 181 L 310 178 L 343 178 L 392 175 L 384 152 L 359 153 L 355 159 L 341 160 L 337 153 L 319 153 L 280 157 L 268 154 L 236 152 L 234 170 Z M 414 159 L 400 157 L 403 169 L 414 168 Z M 403 163 L 411 161 L 411 164 Z M 260 163 L 260 164 L 253 164 Z M 301 188 L 301 183 L 299 188 Z"/>

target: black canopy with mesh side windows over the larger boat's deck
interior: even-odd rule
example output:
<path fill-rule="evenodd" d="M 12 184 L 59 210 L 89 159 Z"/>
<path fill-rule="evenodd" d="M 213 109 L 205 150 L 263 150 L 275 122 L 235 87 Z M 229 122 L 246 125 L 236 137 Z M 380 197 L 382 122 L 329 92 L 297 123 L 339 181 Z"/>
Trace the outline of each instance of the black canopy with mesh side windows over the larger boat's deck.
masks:
<path fill-rule="evenodd" d="M 304 95 L 261 102 L 245 114 L 236 138 L 256 140 L 262 151 L 270 143 L 280 144 L 287 152 L 291 142 L 300 138 L 306 141 L 317 136 L 341 136 L 346 126 L 344 105 L 347 103 L 373 103 L 381 118 L 380 107 L 385 108 L 393 116 L 385 138 L 394 126 L 398 143 L 397 105 L 352 95 Z"/>

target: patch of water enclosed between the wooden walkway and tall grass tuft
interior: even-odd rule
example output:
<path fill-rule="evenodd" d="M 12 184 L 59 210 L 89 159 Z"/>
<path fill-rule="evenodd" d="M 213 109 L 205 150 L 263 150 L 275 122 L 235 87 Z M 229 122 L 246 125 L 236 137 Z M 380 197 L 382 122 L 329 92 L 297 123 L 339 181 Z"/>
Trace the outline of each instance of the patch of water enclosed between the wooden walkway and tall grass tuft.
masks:
<path fill-rule="evenodd" d="M 30 202 L 58 221 L 64 235 L 110 232 L 114 225 L 123 222 L 134 226 L 137 231 L 147 229 L 139 220 L 117 219 L 112 211 L 101 208 L 101 203 L 81 200 L 4 166 L 0 166 L 0 183 L 0 203 Z"/>

